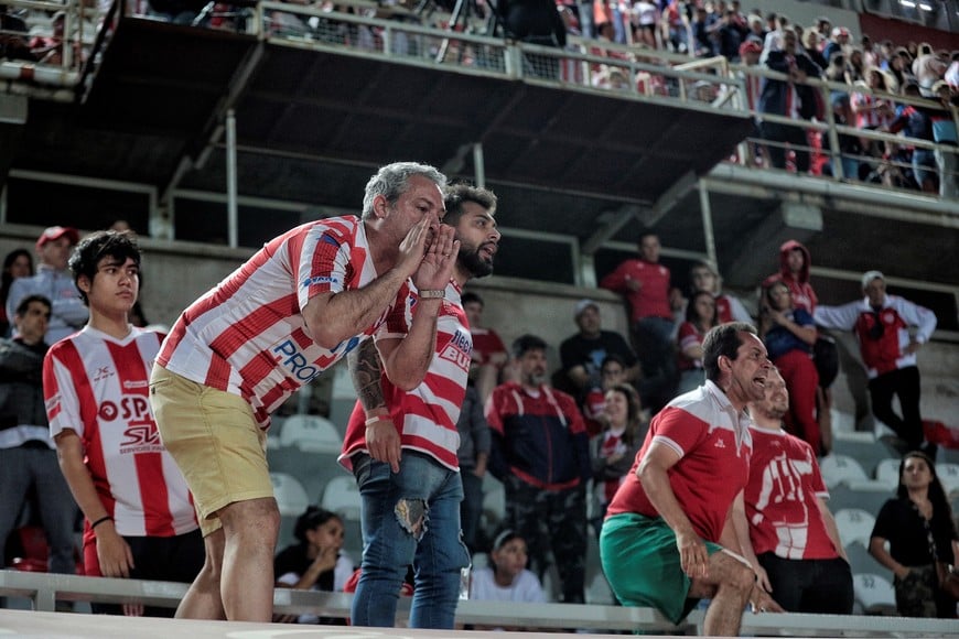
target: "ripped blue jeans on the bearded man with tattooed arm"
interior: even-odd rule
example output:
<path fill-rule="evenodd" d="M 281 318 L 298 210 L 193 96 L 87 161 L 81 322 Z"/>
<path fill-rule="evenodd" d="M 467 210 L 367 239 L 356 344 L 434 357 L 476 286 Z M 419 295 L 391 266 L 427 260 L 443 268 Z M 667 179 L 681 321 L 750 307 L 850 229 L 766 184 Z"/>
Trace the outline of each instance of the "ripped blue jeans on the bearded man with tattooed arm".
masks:
<path fill-rule="evenodd" d="M 463 483 L 429 455 L 405 450 L 400 472 L 358 453 L 363 572 L 353 599 L 356 626 L 392 627 L 400 587 L 413 565 L 410 627 L 452 629 L 460 575 L 470 553 L 460 539 Z"/>

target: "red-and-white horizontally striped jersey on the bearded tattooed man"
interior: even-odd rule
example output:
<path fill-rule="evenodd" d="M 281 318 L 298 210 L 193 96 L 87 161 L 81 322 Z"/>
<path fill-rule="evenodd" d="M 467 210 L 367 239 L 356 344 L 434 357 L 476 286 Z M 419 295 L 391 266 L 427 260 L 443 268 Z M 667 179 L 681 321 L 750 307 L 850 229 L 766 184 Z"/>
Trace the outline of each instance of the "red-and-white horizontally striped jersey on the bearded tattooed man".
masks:
<path fill-rule="evenodd" d="M 414 293 L 410 294 L 416 297 Z M 376 333 L 376 339 L 401 339 L 409 332 L 416 313 L 406 305 L 397 305 L 386 324 Z M 459 469 L 456 450 L 460 447 L 460 433 L 456 422 L 466 396 L 466 378 L 470 375 L 470 356 L 473 340 L 470 324 L 460 302 L 460 288 L 450 282 L 446 296 L 437 320 L 437 350 L 422 383 L 406 392 L 389 382 L 386 375 L 380 377 L 382 393 L 390 409 L 394 424 L 400 430 L 400 445 L 406 450 L 419 451 L 435 458 L 453 470 Z M 351 468 L 349 456 L 357 451 L 366 452 L 366 412 L 356 402 L 340 463 Z"/>

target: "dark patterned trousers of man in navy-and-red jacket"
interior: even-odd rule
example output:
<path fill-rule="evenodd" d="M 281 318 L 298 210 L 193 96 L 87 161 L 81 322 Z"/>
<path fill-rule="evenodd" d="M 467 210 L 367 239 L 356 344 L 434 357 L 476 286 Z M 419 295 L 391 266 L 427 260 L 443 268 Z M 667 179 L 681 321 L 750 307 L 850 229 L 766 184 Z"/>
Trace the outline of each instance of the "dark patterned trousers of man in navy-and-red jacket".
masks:
<path fill-rule="evenodd" d="M 585 602 L 586 491 L 580 485 L 565 490 L 546 490 L 506 477 L 506 521 L 526 540 L 529 570 L 546 574 L 547 550 L 552 549 L 567 604 Z"/>

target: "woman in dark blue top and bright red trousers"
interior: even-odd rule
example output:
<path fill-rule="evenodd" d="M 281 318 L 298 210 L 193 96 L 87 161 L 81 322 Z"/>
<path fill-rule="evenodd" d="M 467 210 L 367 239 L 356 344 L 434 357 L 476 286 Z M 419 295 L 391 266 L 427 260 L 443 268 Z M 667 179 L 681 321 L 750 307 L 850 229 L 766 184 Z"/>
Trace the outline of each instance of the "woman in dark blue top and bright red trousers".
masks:
<path fill-rule="evenodd" d="M 782 280 L 763 288 L 759 337 L 789 390 L 791 401 L 785 415 L 786 430 L 801 437 L 819 456 L 822 445 L 816 421 L 819 373 L 812 362 L 816 323 L 808 311 L 793 303 L 791 295 Z"/>

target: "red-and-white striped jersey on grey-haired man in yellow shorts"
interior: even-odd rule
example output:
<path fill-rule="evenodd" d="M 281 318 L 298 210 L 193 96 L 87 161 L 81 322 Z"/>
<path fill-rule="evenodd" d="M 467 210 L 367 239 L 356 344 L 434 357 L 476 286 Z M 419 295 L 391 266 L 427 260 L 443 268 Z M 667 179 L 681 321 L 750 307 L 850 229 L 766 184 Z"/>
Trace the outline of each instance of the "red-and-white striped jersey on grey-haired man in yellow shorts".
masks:
<path fill-rule="evenodd" d="M 373 334 L 327 349 L 310 336 L 302 310 L 321 293 L 359 289 L 377 277 L 363 221 L 333 217 L 268 242 L 194 302 L 173 325 L 158 364 L 196 383 L 243 397 L 261 427 L 287 398 Z M 406 286 L 398 300 L 408 296 Z"/>

